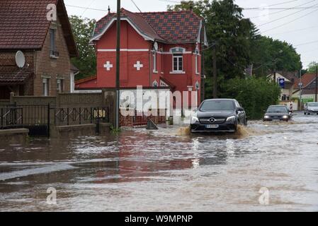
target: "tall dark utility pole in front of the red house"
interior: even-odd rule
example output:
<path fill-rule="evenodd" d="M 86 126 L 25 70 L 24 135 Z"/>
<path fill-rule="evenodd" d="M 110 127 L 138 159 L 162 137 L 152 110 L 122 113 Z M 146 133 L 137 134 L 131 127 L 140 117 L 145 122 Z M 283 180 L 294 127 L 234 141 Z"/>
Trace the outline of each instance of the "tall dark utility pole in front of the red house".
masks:
<path fill-rule="evenodd" d="M 117 0 L 117 48 L 116 48 L 116 121 L 115 128 L 119 129 L 120 102 L 120 0 Z"/>

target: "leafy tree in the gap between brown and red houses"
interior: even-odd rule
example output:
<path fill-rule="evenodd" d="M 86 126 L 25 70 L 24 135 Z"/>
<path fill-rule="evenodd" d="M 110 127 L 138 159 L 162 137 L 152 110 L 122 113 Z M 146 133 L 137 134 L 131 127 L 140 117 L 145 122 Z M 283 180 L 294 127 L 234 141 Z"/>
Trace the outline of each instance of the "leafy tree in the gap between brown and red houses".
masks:
<path fill-rule="evenodd" d="M 74 39 L 77 44 L 77 49 L 79 50 L 79 57 L 71 60 L 72 64 L 80 71 L 76 79 L 96 75 L 95 49 L 89 45 L 96 20 L 70 16 L 69 22 L 71 23 Z"/>

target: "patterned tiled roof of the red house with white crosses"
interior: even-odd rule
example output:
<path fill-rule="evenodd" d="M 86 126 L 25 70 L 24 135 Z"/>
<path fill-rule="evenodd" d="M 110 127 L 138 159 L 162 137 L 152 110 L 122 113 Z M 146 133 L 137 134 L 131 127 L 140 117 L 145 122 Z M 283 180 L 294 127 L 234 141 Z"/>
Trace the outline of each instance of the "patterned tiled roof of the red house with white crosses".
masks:
<path fill-rule="evenodd" d="M 122 9 L 122 16 L 127 17 L 146 35 L 161 42 L 196 42 L 202 19 L 193 11 L 169 11 L 132 13 Z M 116 13 L 108 13 L 98 20 L 94 37 L 100 35 Z"/>

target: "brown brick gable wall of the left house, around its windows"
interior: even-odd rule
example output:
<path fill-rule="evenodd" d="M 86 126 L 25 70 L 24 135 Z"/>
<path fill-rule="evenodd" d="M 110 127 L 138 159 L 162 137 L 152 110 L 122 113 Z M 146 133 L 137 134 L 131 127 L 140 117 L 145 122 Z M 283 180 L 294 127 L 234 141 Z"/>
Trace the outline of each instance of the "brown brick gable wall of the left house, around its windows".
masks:
<path fill-rule="evenodd" d="M 59 20 L 52 23 L 51 28 L 56 30 L 56 50 L 59 52 L 59 57 L 50 57 L 50 33 L 47 32 L 42 50 L 35 52 L 34 95 L 42 95 L 44 77 L 50 78 L 49 95 L 57 95 L 57 78 L 64 78 L 64 93 L 69 93 L 70 90 L 71 62 Z"/>

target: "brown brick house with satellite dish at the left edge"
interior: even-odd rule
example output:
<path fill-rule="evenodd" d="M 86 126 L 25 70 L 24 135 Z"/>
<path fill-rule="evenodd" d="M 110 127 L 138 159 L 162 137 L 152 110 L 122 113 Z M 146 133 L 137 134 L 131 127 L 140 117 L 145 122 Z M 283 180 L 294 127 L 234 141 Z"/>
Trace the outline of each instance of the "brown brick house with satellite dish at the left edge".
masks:
<path fill-rule="evenodd" d="M 56 20 L 47 14 L 56 6 Z M 52 5 L 51 5 L 52 6 Z M 25 66 L 16 66 L 16 52 Z M 0 100 L 15 95 L 69 92 L 78 52 L 63 0 L 0 1 Z"/>

